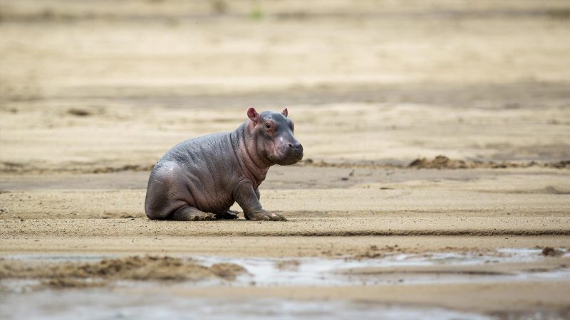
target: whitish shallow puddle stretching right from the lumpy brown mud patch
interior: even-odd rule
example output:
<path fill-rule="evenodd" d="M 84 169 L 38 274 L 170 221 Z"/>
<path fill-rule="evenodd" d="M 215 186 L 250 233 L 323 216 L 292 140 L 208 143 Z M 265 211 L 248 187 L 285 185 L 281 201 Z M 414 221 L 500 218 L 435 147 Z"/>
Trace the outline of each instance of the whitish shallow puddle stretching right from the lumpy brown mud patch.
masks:
<path fill-rule="evenodd" d="M 564 249 L 559 257 L 570 255 Z M 260 259 L 196 257 L 202 264 L 235 263 L 248 270 L 233 286 L 351 286 L 497 282 L 532 279 L 570 279 L 570 267 L 533 268 L 518 265 L 541 260 L 539 249 L 504 249 L 489 255 L 471 253 L 396 254 L 375 259 Z M 488 267 L 507 265 L 507 267 Z M 495 271 L 497 270 L 498 271 Z M 493 270 L 493 271 L 489 271 Z"/>

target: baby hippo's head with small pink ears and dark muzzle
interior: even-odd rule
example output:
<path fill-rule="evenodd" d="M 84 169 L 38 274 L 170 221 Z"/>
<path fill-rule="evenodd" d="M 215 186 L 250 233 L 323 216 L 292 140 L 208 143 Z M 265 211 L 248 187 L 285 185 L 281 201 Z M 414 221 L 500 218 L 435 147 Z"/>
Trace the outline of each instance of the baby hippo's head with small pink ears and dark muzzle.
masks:
<path fill-rule="evenodd" d="M 293 137 L 294 124 L 283 112 L 265 111 L 257 113 L 254 108 L 247 110 L 247 117 L 255 125 L 257 154 L 271 164 L 287 166 L 303 159 L 303 146 Z"/>

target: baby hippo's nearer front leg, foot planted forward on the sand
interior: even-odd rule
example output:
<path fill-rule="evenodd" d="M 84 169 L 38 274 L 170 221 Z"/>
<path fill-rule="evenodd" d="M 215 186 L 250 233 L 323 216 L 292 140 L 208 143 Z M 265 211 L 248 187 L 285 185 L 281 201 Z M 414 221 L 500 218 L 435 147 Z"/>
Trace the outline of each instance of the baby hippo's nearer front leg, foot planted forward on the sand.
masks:
<path fill-rule="evenodd" d="M 239 183 L 234 191 L 234 198 L 239 206 L 244 210 L 244 215 L 247 220 L 287 220 L 282 215 L 271 213 L 261 208 L 258 195 L 259 191 L 256 192 L 252 183 L 247 181 Z"/>

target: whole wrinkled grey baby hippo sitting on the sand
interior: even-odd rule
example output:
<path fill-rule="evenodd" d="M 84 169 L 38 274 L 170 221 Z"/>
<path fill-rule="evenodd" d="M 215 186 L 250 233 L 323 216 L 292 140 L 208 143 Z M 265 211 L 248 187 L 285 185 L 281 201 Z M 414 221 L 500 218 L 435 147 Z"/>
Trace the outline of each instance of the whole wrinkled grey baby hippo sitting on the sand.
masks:
<path fill-rule="evenodd" d="M 249 220 L 286 220 L 261 208 L 257 188 L 274 164 L 303 158 L 293 122 L 283 112 L 247 110 L 232 132 L 209 134 L 172 147 L 150 173 L 145 212 L 150 219 L 234 219 L 237 202 Z"/>

